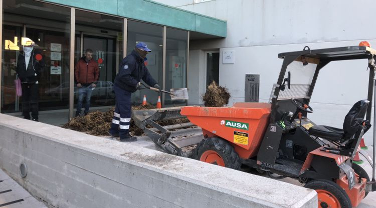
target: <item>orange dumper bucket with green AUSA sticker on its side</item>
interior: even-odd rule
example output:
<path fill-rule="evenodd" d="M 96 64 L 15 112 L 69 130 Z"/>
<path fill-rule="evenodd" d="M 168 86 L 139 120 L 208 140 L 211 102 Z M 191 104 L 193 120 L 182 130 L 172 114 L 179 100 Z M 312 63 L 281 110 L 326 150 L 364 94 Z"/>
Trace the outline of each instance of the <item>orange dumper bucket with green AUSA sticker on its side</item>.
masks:
<path fill-rule="evenodd" d="M 266 126 L 271 104 L 240 102 L 232 107 L 184 106 L 180 114 L 203 129 L 205 137 L 221 137 L 233 144 L 244 159 L 256 156 Z"/>

